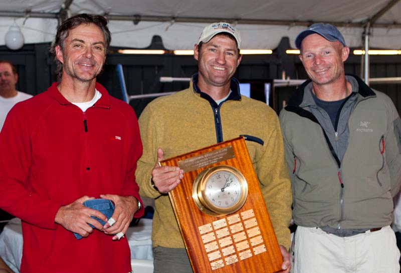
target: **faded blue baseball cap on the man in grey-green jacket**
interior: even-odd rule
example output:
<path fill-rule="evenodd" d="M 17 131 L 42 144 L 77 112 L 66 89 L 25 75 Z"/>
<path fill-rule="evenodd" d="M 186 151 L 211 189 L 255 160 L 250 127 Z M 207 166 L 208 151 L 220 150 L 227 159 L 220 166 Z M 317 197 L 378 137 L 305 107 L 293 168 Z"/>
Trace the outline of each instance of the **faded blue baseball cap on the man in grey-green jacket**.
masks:
<path fill-rule="evenodd" d="M 337 29 L 337 27 L 329 23 L 314 23 L 309 26 L 308 29 L 301 31 L 297 35 L 297 37 L 295 38 L 295 45 L 297 46 L 297 48 L 300 49 L 303 39 L 313 33 L 317 33 L 329 41 L 340 41 L 344 46 L 346 46 L 344 37 Z"/>

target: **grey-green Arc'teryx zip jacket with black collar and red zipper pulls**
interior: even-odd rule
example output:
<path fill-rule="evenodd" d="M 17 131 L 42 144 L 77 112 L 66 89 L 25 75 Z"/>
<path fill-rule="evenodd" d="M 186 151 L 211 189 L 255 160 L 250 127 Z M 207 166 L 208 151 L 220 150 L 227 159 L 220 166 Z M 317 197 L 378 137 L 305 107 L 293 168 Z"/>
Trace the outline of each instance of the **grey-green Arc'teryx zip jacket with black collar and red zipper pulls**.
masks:
<path fill-rule="evenodd" d="M 293 190 L 293 218 L 340 236 L 391 223 L 401 182 L 401 121 L 391 99 L 347 76 L 353 87 L 333 127 L 310 80 L 280 113 Z"/>

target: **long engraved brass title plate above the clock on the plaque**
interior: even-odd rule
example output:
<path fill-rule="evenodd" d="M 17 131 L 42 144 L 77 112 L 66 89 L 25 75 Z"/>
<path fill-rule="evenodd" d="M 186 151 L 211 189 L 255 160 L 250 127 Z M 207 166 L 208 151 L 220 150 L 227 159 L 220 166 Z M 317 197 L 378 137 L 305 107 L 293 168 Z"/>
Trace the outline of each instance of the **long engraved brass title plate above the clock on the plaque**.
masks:
<path fill-rule="evenodd" d="M 216 150 L 208 151 L 190 158 L 182 159 L 177 162 L 178 167 L 184 172 L 203 168 L 208 165 L 234 158 L 233 146 L 229 145 Z"/>

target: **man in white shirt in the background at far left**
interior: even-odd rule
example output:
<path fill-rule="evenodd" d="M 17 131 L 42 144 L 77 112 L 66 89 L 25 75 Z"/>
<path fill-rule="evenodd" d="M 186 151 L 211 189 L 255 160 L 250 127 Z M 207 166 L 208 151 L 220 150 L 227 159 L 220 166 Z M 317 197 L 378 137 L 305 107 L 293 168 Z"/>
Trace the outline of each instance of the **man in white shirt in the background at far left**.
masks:
<path fill-rule="evenodd" d="M 11 108 L 17 102 L 32 97 L 16 90 L 17 81 L 18 74 L 14 64 L 8 60 L 0 60 L 0 131 Z"/>

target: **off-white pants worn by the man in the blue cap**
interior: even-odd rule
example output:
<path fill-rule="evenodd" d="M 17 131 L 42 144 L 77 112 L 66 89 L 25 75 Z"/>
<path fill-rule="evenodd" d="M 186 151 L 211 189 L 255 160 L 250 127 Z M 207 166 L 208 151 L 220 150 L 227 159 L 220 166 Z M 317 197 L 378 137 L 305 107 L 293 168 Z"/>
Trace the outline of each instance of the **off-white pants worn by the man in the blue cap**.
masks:
<path fill-rule="evenodd" d="M 399 273 L 390 226 L 348 237 L 298 226 L 294 239 L 294 273 Z"/>

